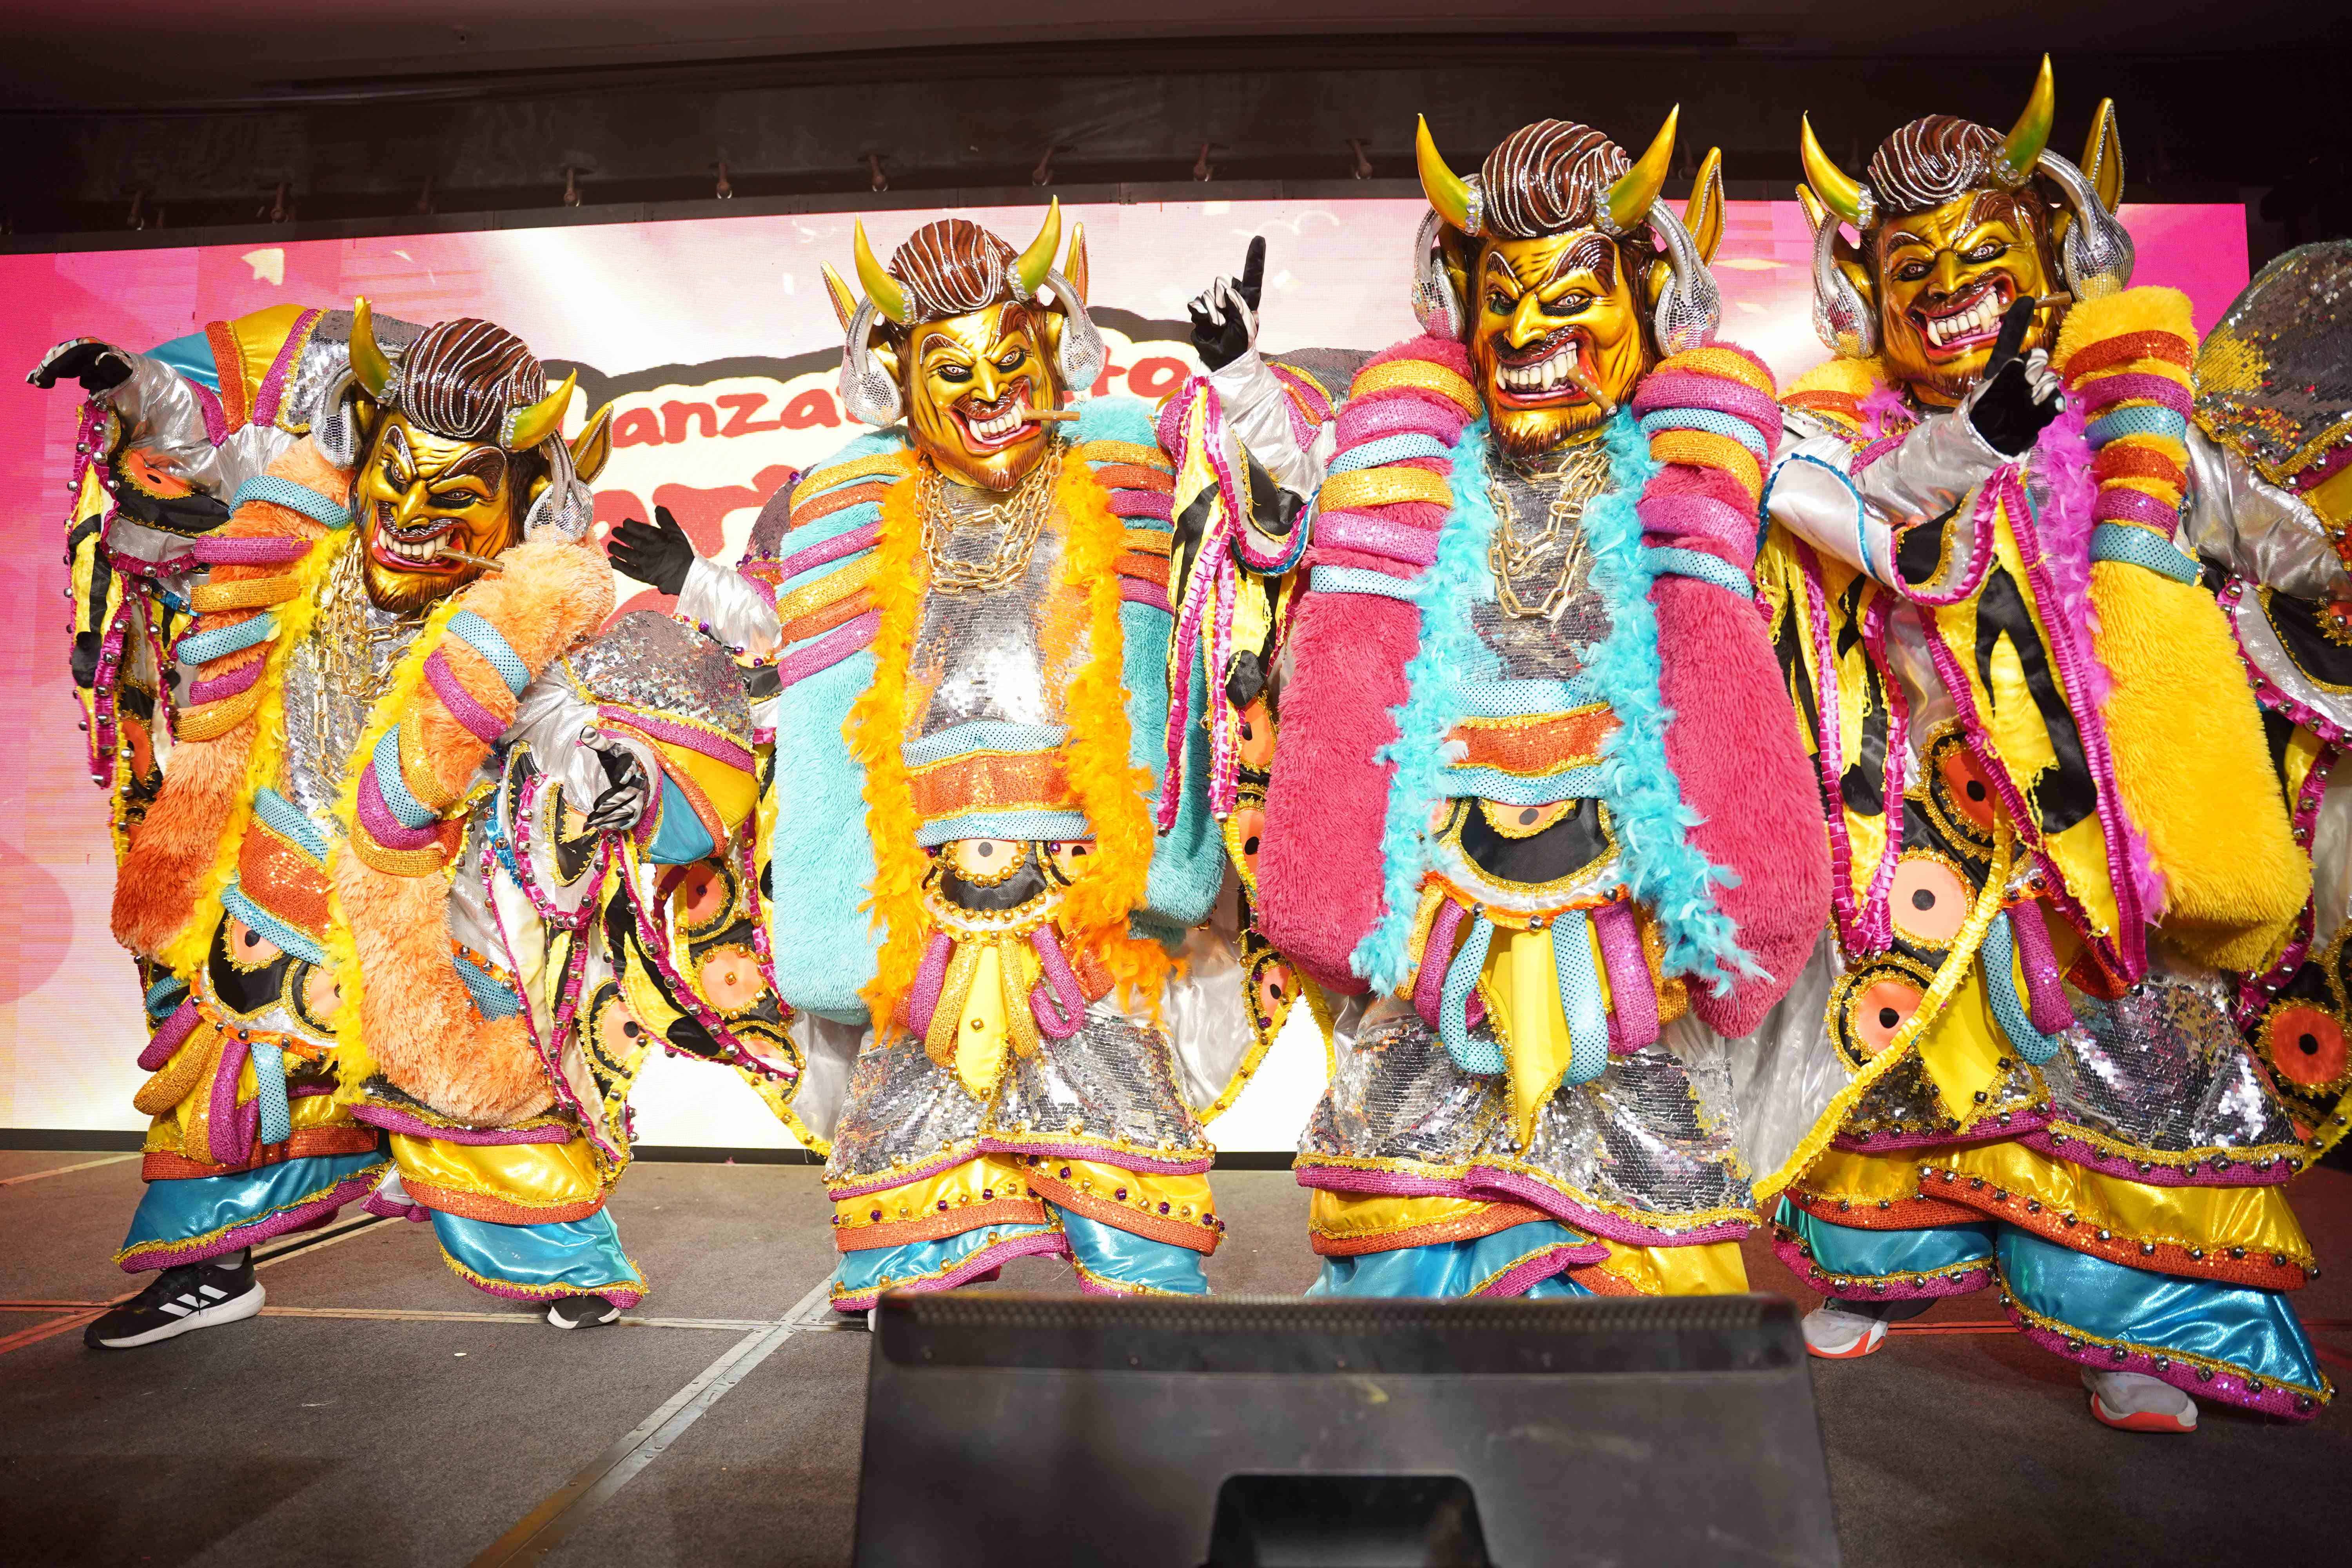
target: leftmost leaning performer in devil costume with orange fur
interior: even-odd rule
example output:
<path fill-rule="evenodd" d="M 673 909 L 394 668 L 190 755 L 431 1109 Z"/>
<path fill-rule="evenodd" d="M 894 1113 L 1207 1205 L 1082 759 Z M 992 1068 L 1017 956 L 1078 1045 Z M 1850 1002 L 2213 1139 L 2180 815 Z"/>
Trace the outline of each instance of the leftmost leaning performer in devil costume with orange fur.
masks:
<path fill-rule="evenodd" d="M 136 691 L 153 726 L 118 743 L 155 1117 L 120 1262 L 165 1269 L 89 1342 L 249 1316 L 247 1248 L 355 1199 L 430 1218 L 485 1291 L 609 1321 L 644 1291 L 604 1213 L 642 1046 L 619 1072 L 583 1046 L 612 922 L 581 905 L 652 898 L 654 860 L 748 816 L 741 684 L 668 621 L 595 637 L 607 416 L 562 442 L 572 383 L 513 334 L 379 339 L 362 301 L 205 341 L 209 367 L 103 350 L 129 374 L 94 388 L 78 475 L 92 703 Z M 699 766 L 729 748 L 731 788 Z"/>

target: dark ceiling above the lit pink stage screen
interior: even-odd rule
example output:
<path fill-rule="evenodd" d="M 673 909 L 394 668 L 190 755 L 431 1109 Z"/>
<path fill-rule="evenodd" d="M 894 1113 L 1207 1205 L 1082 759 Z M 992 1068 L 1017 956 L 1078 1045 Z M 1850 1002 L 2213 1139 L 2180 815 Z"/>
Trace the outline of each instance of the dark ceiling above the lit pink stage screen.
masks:
<path fill-rule="evenodd" d="M 1799 113 L 1851 158 L 1917 113 L 2006 125 L 2044 49 L 2060 146 L 2114 96 L 2140 195 L 2288 186 L 2272 205 L 2321 226 L 2340 200 L 2331 106 L 2347 33 L 2317 5 L 1268 9 L 7 0 L 0 223 L 26 244 L 158 216 L 172 230 L 273 214 L 510 221 L 562 212 L 567 181 L 588 207 L 666 209 L 708 200 L 722 160 L 736 197 L 771 205 L 875 200 L 877 169 L 891 197 L 1033 176 L 1073 193 L 1155 186 L 1200 169 L 1228 183 L 1367 169 L 1395 181 L 1411 172 L 1416 113 L 1475 160 L 1543 115 L 1646 136 L 1672 101 L 1686 158 L 1719 143 L 1736 188 L 1778 193 L 1797 172 Z"/>

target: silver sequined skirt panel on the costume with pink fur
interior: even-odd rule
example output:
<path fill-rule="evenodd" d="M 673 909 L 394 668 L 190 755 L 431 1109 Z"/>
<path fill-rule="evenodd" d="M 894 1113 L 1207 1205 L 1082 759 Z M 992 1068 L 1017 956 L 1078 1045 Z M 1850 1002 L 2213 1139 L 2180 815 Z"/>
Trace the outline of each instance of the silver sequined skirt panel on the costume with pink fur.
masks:
<path fill-rule="evenodd" d="M 1536 1166 L 1569 1197 L 1672 1222 L 1748 1208 L 1755 1194 L 1736 1147 L 1738 1112 L 1722 1051 L 1684 1058 L 1675 1030 L 1616 1056 L 1590 1084 L 1562 1086 L 1526 1150 L 1510 1124 L 1510 1084 L 1463 1072 L 1411 1006 L 1383 999 L 1301 1138 L 1301 1154 L 1463 1166 L 1479 1157 Z M 1698 1027 L 1698 1025 L 1689 1025 Z"/>

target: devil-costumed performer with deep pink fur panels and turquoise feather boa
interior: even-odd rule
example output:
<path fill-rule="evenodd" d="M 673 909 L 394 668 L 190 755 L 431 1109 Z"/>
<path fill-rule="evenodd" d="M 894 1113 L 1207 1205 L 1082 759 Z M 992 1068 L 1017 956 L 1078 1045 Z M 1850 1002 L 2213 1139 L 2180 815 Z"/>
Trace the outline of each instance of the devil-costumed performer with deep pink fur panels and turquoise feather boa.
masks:
<path fill-rule="evenodd" d="M 1672 150 L 1545 120 L 1461 181 L 1421 132 L 1428 334 L 1341 411 L 1258 858 L 1275 945 L 1374 994 L 1301 1138 L 1319 1293 L 1745 1288 L 1726 1039 L 1828 858 L 1748 590 L 1773 381 Z"/>

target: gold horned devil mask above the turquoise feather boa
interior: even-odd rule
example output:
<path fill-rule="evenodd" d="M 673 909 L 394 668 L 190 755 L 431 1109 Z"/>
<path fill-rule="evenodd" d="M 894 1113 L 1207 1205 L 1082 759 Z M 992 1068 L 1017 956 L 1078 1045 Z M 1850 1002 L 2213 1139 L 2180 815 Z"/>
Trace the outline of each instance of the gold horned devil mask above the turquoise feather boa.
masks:
<path fill-rule="evenodd" d="M 1472 376 L 1505 454 L 1529 458 L 1599 435 L 1658 362 L 1649 317 L 1672 268 L 1651 219 L 1677 120 L 1679 108 L 1639 162 L 1585 125 L 1543 120 L 1512 132 L 1475 181 L 1446 167 L 1421 125 L 1421 190 L 1442 221 Z M 1724 226 L 1717 153 L 1684 212 L 1703 263 Z"/>

